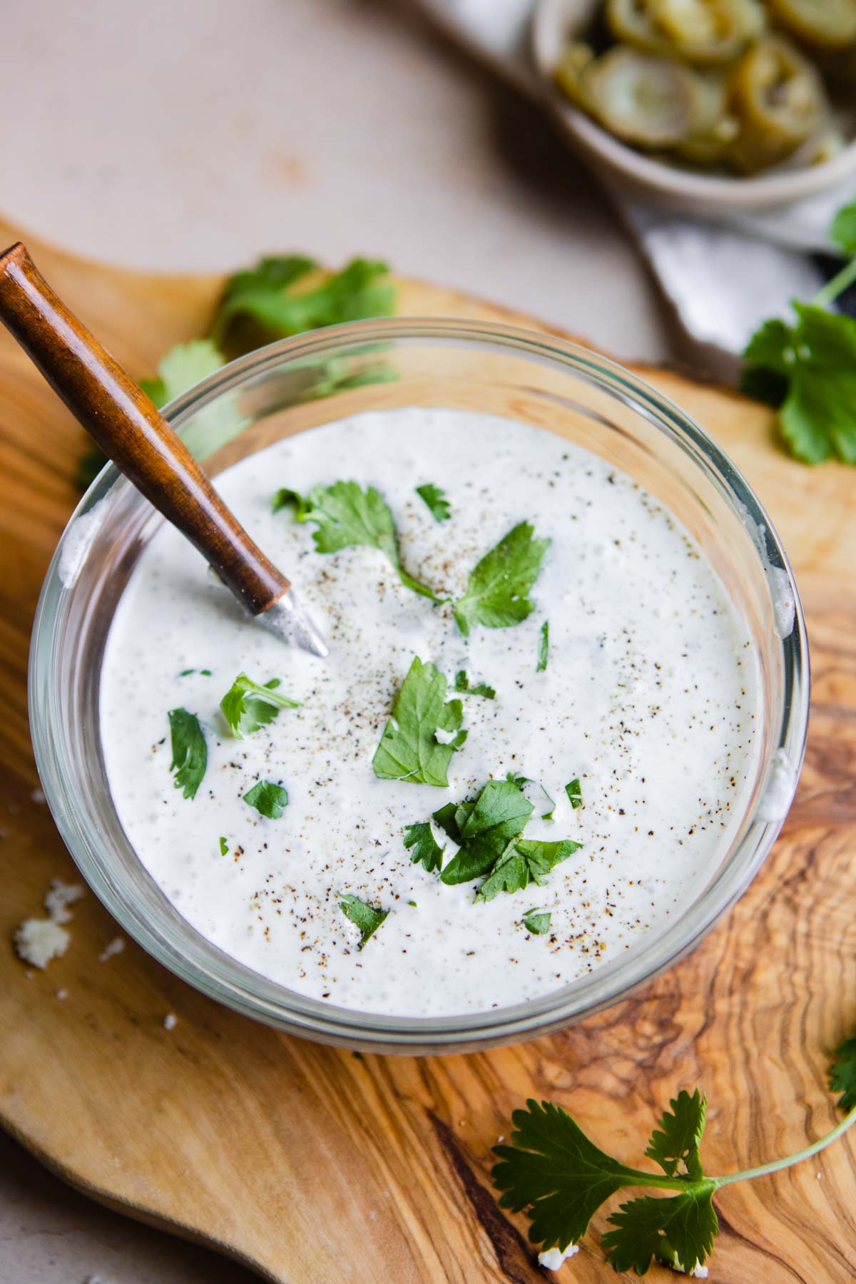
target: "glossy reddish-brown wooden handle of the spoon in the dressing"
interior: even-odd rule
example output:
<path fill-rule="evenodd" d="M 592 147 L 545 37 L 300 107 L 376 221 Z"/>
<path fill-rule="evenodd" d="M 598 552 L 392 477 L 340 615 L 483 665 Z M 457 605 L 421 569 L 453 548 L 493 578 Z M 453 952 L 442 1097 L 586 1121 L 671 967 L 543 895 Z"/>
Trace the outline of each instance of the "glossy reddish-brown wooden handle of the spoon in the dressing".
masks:
<path fill-rule="evenodd" d="M 253 615 L 282 597 L 289 580 L 145 393 L 54 294 L 21 241 L 0 256 L 0 321 L 101 449 Z"/>

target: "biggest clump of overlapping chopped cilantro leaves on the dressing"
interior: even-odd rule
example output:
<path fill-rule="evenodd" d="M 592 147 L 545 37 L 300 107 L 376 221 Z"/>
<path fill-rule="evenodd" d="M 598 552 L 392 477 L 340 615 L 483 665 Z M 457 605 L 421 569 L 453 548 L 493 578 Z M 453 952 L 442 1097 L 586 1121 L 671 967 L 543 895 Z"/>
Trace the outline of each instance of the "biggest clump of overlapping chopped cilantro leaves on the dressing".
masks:
<path fill-rule="evenodd" d="M 440 874 L 444 883 L 484 877 L 476 899 L 493 900 L 501 891 L 520 891 L 530 882 L 542 886 L 551 869 L 579 850 L 580 844 L 570 838 L 540 842 L 522 837 L 534 808 L 518 781 L 524 778 L 488 781 L 474 801 L 447 802 L 434 813 L 458 845 Z"/>

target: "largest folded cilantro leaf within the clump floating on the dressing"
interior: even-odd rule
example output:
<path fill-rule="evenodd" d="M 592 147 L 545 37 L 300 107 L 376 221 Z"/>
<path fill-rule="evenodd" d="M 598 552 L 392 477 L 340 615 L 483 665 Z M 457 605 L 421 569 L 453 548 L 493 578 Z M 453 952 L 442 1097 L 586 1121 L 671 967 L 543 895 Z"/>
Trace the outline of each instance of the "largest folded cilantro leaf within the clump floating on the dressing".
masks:
<path fill-rule="evenodd" d="M 488 781 L 475 802 L 461 802 L 452 814 L 449 806 L 434 813 L 436 823 L 461 849 L 440 874 L 444 883 L 486 874 L 533 814 L 531 802 L 509 781 Z"/>

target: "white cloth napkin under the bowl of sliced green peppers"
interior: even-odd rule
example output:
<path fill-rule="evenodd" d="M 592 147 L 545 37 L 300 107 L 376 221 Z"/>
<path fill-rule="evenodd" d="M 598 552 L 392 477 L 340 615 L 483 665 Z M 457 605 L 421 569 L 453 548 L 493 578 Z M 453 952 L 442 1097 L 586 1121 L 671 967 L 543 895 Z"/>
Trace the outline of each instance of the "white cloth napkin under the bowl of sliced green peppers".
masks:
<path fill-rule="evenodd" d="M 448 35 L 522 92 L 543 101 L 529 54 L 534 0 L 416 0 Z M 782 211 L 735 214 L 707 223 L 611 196 L 689 338 L 708 366 L 734 379 L 739 353 L 769 316 L 788 316 L 789 300 L 810 298 L 824 282 L 812 253 L 834 253 L 828 227 L 852 199 L 851 184 Z"/>

